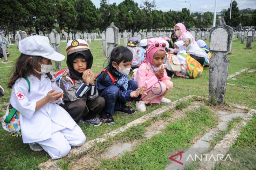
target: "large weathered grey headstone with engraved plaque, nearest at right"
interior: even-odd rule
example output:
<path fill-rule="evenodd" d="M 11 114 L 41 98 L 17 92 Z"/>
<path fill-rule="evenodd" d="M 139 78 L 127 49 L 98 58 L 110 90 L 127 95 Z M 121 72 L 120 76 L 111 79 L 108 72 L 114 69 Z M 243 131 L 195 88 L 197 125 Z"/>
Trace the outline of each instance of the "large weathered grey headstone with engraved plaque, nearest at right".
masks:
<path fill-rule="evenodd" d="M 226 55 L 231 49 L 232 36 L 233 29 L 226 25 L 223 18 L 210 32 L 210 51 L 214 55 L 210 58 L 209 69 L 209 102 L 211 103 L 224 103 L 229 67 L 229 59 Z"/>

